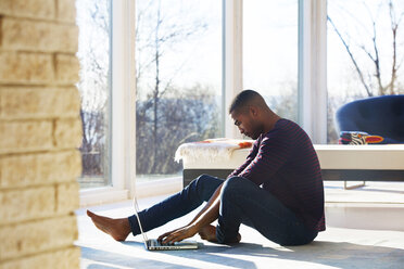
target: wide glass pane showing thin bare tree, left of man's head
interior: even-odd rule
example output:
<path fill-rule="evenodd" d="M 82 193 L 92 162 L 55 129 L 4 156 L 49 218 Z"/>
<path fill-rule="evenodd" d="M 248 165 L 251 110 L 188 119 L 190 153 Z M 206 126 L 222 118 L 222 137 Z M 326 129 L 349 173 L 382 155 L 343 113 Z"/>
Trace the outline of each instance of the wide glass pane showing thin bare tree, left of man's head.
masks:
<path fill-rule="evenodd" d="M 222 1 L 136 2 L 137 181 L 180 176 L 185 142 L 220 136 Z"/>

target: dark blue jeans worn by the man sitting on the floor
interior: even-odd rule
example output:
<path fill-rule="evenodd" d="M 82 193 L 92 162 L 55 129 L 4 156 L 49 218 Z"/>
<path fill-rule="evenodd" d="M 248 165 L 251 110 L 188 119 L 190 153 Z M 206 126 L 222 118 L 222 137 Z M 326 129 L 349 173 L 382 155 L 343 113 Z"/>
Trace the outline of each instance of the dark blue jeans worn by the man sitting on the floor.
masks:
<path fill-rule="evenodd" d="M 207 202 L 222 179 L 202 175 L 182 191 L 139 213 L 144 231 L 179 218 Z M 293 212 L 269 192 L 241 177 L 229 178 L 222 188 L 216 235 L 219 243 L 233 242 L 241 223 L 256 229 L 280 245 L 303 245 L 317 236 L 305 228 Z M 129 217 L 134 235 L 140 233 L 136 216 Z"/>

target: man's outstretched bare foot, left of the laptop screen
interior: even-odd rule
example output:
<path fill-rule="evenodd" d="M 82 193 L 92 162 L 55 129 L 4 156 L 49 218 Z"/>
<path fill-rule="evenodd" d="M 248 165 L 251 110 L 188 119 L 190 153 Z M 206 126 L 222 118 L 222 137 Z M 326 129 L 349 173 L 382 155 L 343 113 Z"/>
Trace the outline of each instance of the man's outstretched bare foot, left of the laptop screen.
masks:
<path fill-rule="evenodd" d="M 98 229 L 110 234 L 116 241 L 125 241 L 130 233 L 130 225 L 127 218 L 106 218 L 96 215 L 90 210 L 87 210 L 87 216 L 91 218 Z"/>

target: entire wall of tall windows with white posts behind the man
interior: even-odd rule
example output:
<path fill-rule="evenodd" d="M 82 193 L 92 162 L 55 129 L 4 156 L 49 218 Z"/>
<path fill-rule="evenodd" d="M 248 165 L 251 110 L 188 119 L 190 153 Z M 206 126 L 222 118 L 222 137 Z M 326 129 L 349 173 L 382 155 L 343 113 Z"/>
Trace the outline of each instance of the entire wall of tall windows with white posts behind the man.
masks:
<path fill-rule="evenodd" d="M 394 20 L 400 22 L 397 48 L 403 44 L 401 2 L 391 1 Z M 355 15 L 350 13 L 353 10 Z M 367 94 L 341 37 L 350 43 L 367 82 L 375 87 L 373 65 L 358 41 L 368 40 L 364 48 L 373 49 L 369 18 L 376 20 L 380 66 L 383 72 L 391 69 L 390 14 L 389 1 L 382 0 L 329 1 L 328 22 L 323 0 L 77 1 L 78 88 L 85 139 L 89 141 L 80 149 L 81 187 L 113 183 L 108 191 L 119 191 L 121 196 L 127 195 L 127 190 L 132 193 L 134 141 L 137 182 L 178 178 L 181 165 L 174 162 L 178 145 L 222 137 L 223 126 L 227 136 L 233 134 L 223 104 L 228 105 L 241 87 L 261 92 L 276 113 L 299 121 L 315 143 L 336 142 L 336 110 Z M 399 66 L 403 54 L 399 49 L 396 52 Z M 397 68 L 396 75 L 395 88 L 402 90 L 403 69 Z M 382 85 L 389 85 L 388 77 L 383 75 Z"/>

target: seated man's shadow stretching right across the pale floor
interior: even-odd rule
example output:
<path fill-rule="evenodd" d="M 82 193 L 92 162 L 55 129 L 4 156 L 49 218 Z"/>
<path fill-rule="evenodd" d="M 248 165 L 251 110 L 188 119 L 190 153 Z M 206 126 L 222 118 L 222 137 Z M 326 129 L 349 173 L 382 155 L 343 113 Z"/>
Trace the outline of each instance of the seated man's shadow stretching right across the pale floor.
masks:
<path fill-rule="evenodd" d="M 123 244 L 136 248 L 143 247 L 143 244 L 139 242 L 123 242 Z M 270 259 L 285 259 L 337 268 L 368 268 L 369 265 L 373 268 L 400 268 L 404 265 L 404 249 L 326 241 L 314 241 L 308 245 L 285 246 L 282 248 L 253 243 L 240 243 L 231 247 L 201 245 L 199 249 L 193 251 L 164 251 L 161 253 L 233 268 L 257 268 L 252 261 L 253 259 L 247 260 L 243 256 L 260 257 L 260 260 L 268 259 L 268 262 Z M 185 268 L 189 267 L 185 266 Z"/>

